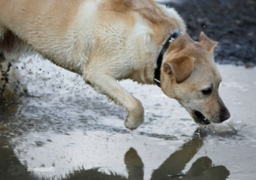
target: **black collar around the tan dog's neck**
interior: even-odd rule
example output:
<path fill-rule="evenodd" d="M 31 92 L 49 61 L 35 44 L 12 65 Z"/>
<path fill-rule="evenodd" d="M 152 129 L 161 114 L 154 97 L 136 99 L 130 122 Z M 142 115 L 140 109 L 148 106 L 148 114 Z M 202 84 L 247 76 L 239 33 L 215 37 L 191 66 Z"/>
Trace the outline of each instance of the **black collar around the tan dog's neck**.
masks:
<path fill-rule="evenodd" d="M 162 64 L 162 58 L 164 57 L 164 54 L 166 52 L 166 50 L 169 47 L 169 44 L 172 42 L 173 39 L 177 38 L 180 35 L 180 33 L 173 33 L 165 42 L 164 46 L 162 46 L 162 49 L 158 55 L 157 58 L 157 68 L 155 69 L 155 77 L 154 77 L 154 81 L 155 84 L 160 87 L 160 68 L 161 68 L 161 64 Z"/>

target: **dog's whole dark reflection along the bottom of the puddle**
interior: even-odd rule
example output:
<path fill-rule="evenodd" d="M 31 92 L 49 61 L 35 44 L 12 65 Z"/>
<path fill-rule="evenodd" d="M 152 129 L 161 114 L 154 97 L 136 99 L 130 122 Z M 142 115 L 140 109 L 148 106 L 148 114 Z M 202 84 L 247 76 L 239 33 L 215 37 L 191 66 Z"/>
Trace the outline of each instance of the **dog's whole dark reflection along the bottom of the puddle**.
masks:
<path fill-rule="evenodd" d="M 214 166 L 212 160 L 208 157 L 198 158 L 191 166 L 189 171 L 182 173 L 185 165 L 197 154 L 203 145 L 205 132 L 197 130 L 195 136 L 188 142 L 184 143 L 178 151 L 174 152 L 158 169 L 155 169 L 151 175 L 151 180 L 164 179 L 196 179 L 196 180 L 222 180 L 229 175 L 229 170 L 225 166 Z M 143 180 L 144 164 L 138 156 L 135 149 L 130 148 L 124 158 L 128 179 Z M 67 175 L 65 179 L 127 179 L 113 172 L 104 174 L 98 171 L 99 168 L 90 170 L 75 171 Z"/>

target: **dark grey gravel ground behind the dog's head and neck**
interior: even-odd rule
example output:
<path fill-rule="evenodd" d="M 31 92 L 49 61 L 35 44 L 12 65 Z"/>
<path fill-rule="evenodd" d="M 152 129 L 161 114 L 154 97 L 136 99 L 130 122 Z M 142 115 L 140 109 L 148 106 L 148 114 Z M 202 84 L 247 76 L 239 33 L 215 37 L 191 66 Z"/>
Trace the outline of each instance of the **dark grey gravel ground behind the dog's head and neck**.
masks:
<path fill-rule="evenodd" d="M 172 1 L 188 25 L 188 33 L 197 40 L 201 31 L 218 41 L 216 62 L 220 64 L 256 64 L 256 1 L 194 0 Z"/>

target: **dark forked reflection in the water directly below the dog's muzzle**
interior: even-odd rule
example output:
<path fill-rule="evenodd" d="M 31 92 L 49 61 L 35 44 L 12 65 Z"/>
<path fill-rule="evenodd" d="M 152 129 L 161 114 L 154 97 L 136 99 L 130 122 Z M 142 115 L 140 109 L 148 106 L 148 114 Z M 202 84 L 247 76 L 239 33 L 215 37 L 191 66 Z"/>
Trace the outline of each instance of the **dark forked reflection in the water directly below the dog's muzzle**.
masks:
<path fill-rule="evenodd" d="M 154 170 L 151 179 L 226 179 L 229 171 L 225 166 L 214 166 L 212 160 L 208 157 L 198 158 L 186 173 L 182 173 L 185 165 L 197 154 L 203 145 L 205 132 L 198 129 L 195 132 L 195 137 L 173 153 L 158 169 Z"/>

